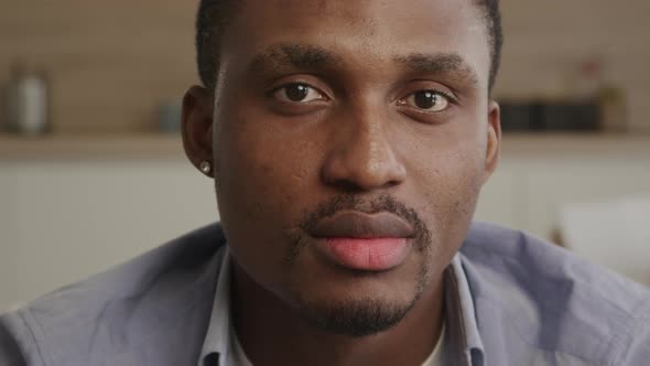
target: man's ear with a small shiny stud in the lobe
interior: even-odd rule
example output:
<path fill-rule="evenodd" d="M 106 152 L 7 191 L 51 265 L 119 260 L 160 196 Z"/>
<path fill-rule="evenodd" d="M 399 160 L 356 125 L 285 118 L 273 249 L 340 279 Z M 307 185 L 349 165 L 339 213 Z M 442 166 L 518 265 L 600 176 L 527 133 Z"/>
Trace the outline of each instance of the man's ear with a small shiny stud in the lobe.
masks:
<path fill-rule="evenodd" d="M 183 148 L 196 169 L 204 161 L 213 164 L 213 98 L 207 89 L 193 86 L 185 93 L 181 126 Z"/>

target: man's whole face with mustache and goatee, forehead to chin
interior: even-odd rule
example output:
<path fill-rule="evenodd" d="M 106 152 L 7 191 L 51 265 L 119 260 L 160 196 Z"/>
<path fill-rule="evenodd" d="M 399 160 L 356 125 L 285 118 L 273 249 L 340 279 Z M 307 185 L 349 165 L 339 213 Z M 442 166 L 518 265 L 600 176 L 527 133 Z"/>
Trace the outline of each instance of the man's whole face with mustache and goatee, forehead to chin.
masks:
<path fill-rule="evenodd" d="M 215 90 L 235 262 L 333 331 L 441 281 L 497 160 L 486 24 L 465 0 L 242 1 Z"/>

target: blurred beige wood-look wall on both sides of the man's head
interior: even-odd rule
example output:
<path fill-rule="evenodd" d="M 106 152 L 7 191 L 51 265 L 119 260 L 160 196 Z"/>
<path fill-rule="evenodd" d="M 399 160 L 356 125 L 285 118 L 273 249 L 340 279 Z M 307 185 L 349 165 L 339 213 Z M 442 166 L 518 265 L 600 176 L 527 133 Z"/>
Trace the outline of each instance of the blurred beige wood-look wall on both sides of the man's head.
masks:
<path fill-rule="evenodd" d="M 196 82 L 197 1 L 0 0 L 0 80 L 13 60 L 36 61 L 54 82 L 61 131 L 143 130 L 156 103 Z M 636 130 L 650 131 L 650 2 L 502 0 L 507 33 L 497 95 L 557 93 L 581 60 L 599 54 L 627 88 Z"/>

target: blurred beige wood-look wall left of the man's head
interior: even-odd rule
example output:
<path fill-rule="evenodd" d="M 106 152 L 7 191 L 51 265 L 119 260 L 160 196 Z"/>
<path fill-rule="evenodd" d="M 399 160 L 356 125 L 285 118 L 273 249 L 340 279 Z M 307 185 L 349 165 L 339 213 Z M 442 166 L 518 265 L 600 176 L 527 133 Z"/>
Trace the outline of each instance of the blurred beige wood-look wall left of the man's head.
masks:
<path fill-rule="evenodd" d="M 159 101 L 195 83 L 196 1 L 0 0 L 0 80 L 43 65 L 62 132 L 143 130 Z"/>

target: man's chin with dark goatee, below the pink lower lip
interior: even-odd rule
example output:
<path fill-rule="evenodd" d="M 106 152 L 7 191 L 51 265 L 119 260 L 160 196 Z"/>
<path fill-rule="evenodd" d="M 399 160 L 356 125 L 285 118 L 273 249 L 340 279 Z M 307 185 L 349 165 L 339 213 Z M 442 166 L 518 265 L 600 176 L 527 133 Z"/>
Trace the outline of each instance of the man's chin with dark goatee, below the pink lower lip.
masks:
<path fill-rule="evenodd" d="M 423 258 L 418 256 L 380 272 L 312 262 L 308 255 L 301 259 L 304 261 L 292 273 L 294 305 L 308 324 L 334 334 L 361 337 L 390 330 L 430 282 Z"/>

